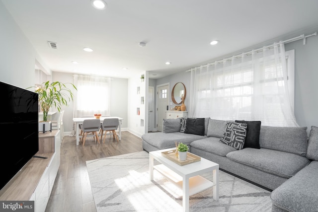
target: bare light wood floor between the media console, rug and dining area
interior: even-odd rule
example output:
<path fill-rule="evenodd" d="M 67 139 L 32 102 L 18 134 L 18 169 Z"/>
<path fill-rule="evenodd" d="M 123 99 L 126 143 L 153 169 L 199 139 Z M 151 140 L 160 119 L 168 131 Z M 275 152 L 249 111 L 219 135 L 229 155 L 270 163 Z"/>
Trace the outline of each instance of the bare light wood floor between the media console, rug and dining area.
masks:
<path fill-rule="evenodd" d="M 87 138 L 84 146 L 76 145 L 75 136 L 65 136 L 61 165 L 45 212 L 96 212 L 85 161 L 142 150 L 142 139 L 127 131 L 119 142 L 108 135 L 105 143 Z"/>

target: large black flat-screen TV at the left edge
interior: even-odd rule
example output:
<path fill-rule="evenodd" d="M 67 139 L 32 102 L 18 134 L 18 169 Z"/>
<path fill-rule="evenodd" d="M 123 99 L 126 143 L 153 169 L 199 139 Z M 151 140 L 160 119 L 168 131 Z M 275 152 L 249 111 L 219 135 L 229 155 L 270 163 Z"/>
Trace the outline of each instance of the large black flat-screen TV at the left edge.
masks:
<path fill-rule="evenodd" d="M 0 82 L 0 190 L 38 152 L 38 94 Z"/>

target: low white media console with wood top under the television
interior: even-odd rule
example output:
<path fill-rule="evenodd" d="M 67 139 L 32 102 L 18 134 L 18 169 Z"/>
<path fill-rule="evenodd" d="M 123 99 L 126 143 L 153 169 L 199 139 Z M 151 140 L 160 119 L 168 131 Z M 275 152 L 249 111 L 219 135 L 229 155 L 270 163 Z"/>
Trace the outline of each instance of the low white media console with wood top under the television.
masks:
<path fill-rule="evenodd" d="M 35 212 L 44 212 L 61 161 L 60 131 L 39 133 L 39 151 L 0 192 L 0 200 L 34 201 Z"/>

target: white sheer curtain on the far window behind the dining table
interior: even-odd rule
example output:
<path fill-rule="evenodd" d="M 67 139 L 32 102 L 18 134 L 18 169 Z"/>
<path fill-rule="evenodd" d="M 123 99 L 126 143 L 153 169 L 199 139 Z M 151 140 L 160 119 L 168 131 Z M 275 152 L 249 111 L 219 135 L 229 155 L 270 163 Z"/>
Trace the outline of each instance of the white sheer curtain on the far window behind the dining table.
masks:
<path fill-rule="evenodd" d="M 95 113 L 110 115 L 110 82 L 109 77 L 74 75 L 76 92 L 74 117 L 92 116 Z"/>

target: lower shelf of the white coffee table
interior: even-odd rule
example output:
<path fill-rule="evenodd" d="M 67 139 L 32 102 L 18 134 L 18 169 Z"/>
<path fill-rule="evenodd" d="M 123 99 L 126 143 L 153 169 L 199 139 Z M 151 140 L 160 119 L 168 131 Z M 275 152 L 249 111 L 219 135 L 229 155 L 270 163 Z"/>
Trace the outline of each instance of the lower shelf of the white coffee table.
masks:
<path fill-rule="evenodd" d="M 159 171 L 163 176 L 165 176 L 167 179 L 169 179 L 172 183 L 174 183 L 178 188 L 182 190 L 182 177 L 175 172 L 173 172 L 171 169 L 166 167 L 163 164 L 159 164 L 154 166 L 154 169 Z M 215 184 L 204 177 L 197 175 L 194 177 L 189 178 L 189 195 L 197 194 L 201 191 L 204 191 L 212 186 L 215 186 Z"/>

